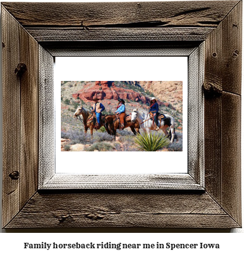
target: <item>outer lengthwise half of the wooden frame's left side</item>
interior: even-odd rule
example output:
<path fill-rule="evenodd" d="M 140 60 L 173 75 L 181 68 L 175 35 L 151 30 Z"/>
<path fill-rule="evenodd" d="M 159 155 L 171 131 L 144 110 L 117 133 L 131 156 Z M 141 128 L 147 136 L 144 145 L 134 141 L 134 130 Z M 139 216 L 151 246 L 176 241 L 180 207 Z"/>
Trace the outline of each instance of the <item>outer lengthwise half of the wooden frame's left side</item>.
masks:
<path fill-rule="evenodd" d="M 19 25 L 2 8 L 3 85 L 3 211 L 5 226 L 19 211 L 20 81 L 14 70 L 19 63 Z M 13 173 L 14 174 L 14 173 Z"/>

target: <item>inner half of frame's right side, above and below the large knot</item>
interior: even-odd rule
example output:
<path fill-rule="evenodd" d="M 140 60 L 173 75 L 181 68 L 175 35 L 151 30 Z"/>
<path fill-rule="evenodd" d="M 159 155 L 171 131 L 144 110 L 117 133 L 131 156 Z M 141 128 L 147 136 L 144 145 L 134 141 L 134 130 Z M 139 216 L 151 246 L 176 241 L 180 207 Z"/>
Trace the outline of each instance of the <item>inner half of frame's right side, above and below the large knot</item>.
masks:
<path fill-rule="evenodd" d="M 205 42 L 205 86 L 222 90 L 222 24 Z M 205 95 L 205 188 L 222 202 L 222 101 Z"/>

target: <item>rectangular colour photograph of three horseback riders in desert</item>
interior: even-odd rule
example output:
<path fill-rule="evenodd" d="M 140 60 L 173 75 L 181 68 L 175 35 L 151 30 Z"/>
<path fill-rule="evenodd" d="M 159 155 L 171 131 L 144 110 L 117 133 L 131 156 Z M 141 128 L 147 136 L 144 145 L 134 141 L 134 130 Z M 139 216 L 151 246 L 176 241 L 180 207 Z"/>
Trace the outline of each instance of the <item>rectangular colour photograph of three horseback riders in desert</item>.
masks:
<path fill-rule="evenodd" d="M 183 81 L 61 81 L 61 151 L 182 151 Z"/>

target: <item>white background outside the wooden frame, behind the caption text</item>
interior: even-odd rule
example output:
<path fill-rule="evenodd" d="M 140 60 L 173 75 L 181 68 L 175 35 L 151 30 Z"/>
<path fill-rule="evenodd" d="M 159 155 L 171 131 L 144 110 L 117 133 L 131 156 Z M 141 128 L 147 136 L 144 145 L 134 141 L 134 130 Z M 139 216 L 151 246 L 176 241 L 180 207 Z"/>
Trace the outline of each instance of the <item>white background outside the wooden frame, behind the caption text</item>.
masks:
<path fill-rule="evenodd" d="M 155 0 L 157 1 L 157 0 Z M 174 1 L 174 0 L 172 0 Z M 17 2 L 15 1 L 5 1 L 5 2 Z M 18 1 L 20 2 L 20 1 Z M 21 1 L 22 2 L 22 1 Z M 33 2 L 32 1 L 26 1 L 26 2 Z M 37 1 L 36 1 L 37 2 Z M 38 2 L 50 2 L 50 1 L 38 1 Z M 56 2 L 66 2 L 66 1 L 56 1 Z M 72 2 L 77 2 L 75 0 L 72 0 Z M 80 1 L 80 2 L 89 2 L 87 1 Z M 102 1 L 93 1 L 93 2 L 102 2 Z M 107 1 L 109 2 L 109 1 Z M 114 0 L 116 2 L 116 0 Z M 117 1 L 118 2 L 118 1 Z M 138 1 L 131 1 L 131 2 L 138 2 Z M 0 52 L 1 55 L 1 52 Z M 242 66 L 242 81 L 244 80 L 243 77 L 243 66 Z M 0 92 L 2 93 L 2 92 Z M 0 97 L 0 100 L 2 101 L 2 97 Z M 2 107 L 2 102 L 1 105 Z M 2 111 L 0 112 L 0 115 L 2 115 Z M 242 104 L 242 124 L 244 120 L 244 105 Z M 243 126 L 242 126 L 243 127 Z M 0 129 L 2 129 L 2 126 L 0 126 Z M 1 130 L 2 131 L 2 130 Z M 2 137 L 1 137 L 2 138 Z M 243 145 L 243 136 L 242 136 L 242 149 L 244 148 Z M 242 150 L 243 155 L 243 150 Z M 243 165 L 242 165 L 243 166 Z M 243 167 L 242 167 L 243 168 Z M 242 184 L 244 183 L 243 179 L 244 175 L 242 175 Z M 1 173 L 1 180 L 0 180 L 0 193 L 2 193 L 2 173 Z M 2 194 L 1 194 L 2 197 Z M 242 189 L 242 220 L 244 221 L 244 194 Z M 51 230 L 39 230 L 39 229 L 33 229 L 33 230 L 13 230 L 8 231 L 8 233 L 5 233 L 5 230 L 2 230 L 2 234 L 0 235 L 0 253 L 2 255 L 9 254 L 9 255 L 53 255 L 54 250 L 26 250 L 23 249 L 23 243 L 24 242 L 32 242 L 32 243 L 41 243 L 41 242 L 56 242 L 56 243 L 70 243 L 70 242 L 83 242 L 87 243 L 90 241 L 93 242 L 101 242 L 103 240 L 104 242 L 111 241 L 111 242 L 124 242 L 124 243 L 133 243 L 133 242 L 171 242 L 171 243 L 194 243 L 194 242 L 205 242 L 205 243 L 220 243 L 220 250 L 163 250 L 163 251 L 155 251 L 150 250 L 143 252 L 140 251 L 141 255 L 243 255 L 243 241 L 244 241 L 244 229 L 243 228 L 234 228 L 231 231 L 229 230 L 216 230 L 216 229 L 148 229 L 148 230 L 141 230 L 140 228 L 135 231 L 132 229 L 110 229 L 110 230 L 103 230 L 104 232 L 120 232 L 120 233 L 89 233 L 89 232 L 101 232 L 97 229 L 69 229 L 69 230 L 62 230 L 62 229 L 51 229 Z M 18 232 L 18 233 L 14 233 Z M 19 232 L 27 232 L 20 234 Z M 28 232 L 37 232 L 36 234 L 28 233 Z M 39 233 L 43 232 L 43 233 Z M 49 232 L 67 232 L 65 233 L 49 233 Z M 74 233 L 70 233 L 74 232 Z M 75 233 L 80 232 L 80 233 Z M 123 233 L 128 232 L 128 233 Z M 150 233 L 133 233 L 133 232 L 150 232 Z M 178 232 L 178 233 L 171 233 L 171 232 Z M 189 232 L 189 233 L 182 233 L 182 232 Z M 202 232 L 202 233 L 195 233 L 195 232 Z M 205 233 L 210 232 L 210 233 Z M 235 232 L 237 234 L 229 234 L 229 233 L 215 233 L 215 232 Z M 241 233 L 238 233 L 241 232 Z M 69 233 L 69 234 L 68 234 Z M 59 255 L 67 255 L 68 253 L 72 255 L 115 255 L 120 254 L 124 255 L 126 253 L 127 255 L 137 254 L 137 251 L 135 250 L 120 250 L 120 251 L 95 251 L 90 252 L 89 250 L 80 251 L 77 250 L 74 252 L 74 250 L 67 251 L 67 250 L 59 250 Z"/>

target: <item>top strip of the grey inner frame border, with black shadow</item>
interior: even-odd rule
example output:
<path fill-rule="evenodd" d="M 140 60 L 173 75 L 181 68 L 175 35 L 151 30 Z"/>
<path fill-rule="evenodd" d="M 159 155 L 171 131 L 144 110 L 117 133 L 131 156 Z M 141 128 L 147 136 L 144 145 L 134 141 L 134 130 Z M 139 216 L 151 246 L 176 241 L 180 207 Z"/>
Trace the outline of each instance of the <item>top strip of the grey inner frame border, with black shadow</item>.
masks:
<path fill-rule="evenodd" d="M 189 56 L 199 41 L 42 41 L 52 56 Z"/>

